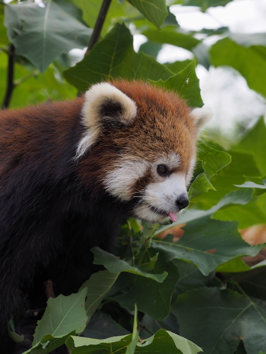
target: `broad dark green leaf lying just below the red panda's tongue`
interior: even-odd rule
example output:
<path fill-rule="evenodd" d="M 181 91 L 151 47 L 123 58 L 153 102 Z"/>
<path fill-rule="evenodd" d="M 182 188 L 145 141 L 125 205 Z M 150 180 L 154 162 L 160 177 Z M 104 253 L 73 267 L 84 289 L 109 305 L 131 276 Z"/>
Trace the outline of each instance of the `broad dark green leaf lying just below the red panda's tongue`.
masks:
<path fill-rule="evenodd" d="M 191 220 L 183 228 L 184 235 L 174 243 L 170 237 L 154 239 L 152 248 L 163 252 L 170 261 L 185 259 L 196 264 L 207 276 L 233 258 L 256 255 L 262 245 L 249 246 L 242 240 L 236 222 L 221 222 L 209 216 Z"/>

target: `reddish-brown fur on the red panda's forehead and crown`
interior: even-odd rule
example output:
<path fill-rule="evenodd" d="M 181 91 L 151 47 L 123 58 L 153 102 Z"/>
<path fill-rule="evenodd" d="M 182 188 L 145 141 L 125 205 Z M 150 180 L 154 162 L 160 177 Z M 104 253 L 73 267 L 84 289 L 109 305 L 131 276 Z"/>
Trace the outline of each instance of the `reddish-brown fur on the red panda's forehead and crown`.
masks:
<path fill-rule="evenodd" d="M 198 130 L 185 101 L 175 93 L 141 81 L 114 80 L 111 84 L 135 101 L 137 117 L 128 127 L 103 131 L 90 158 L 82 159 L 83 181 L 89 182 L 86 179 L 88 168 L 92 172 L 90 179 L 102 180 L 116 163 L 119 147 L 129 158 L 148 162 L 155 162 L 158 156 L 179 154 L 178 171 L 187 171 L 195 154 Z"/>

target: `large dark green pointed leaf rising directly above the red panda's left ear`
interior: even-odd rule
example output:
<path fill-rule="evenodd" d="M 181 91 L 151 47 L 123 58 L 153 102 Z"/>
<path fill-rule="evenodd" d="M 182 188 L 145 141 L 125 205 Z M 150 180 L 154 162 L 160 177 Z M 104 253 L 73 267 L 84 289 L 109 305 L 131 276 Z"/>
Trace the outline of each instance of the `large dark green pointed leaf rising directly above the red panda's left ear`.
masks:
<path fill-rule="evenodd" d="M 68 82 L 85 91 L 88 85 L 110 78 L 166 80 L 174 73 L 155 58 L 135 53 L 133 37 L 124 25 L 115 27 L 75 67 L 64 72 Z"/>

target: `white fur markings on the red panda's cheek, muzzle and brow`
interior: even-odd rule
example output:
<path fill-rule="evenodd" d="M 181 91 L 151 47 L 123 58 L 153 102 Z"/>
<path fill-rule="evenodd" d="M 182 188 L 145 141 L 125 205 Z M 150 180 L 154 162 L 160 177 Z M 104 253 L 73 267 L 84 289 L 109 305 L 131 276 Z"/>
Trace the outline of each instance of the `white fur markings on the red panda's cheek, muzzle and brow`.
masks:
<path fill-rule="evenodd" d="M 191 170 L 195 159 L 191 160 Z M 124 156 L 109 172 L 103 181 L 105 189 L 113 197 L 122 201 L 137 198 L 134 215 L 150 223 L 161 223 L 169 219 L 168 213 L 177 213 L 178 200 L 187 198 L 185 173 L 172 172 L 166 176 L 159 175 L 157 167 L 164 164 L 171 171 L 180 165 L 180 157 L 172 154 L 158 159 L 155 163 L 145 160 L 130 160 Z M 138 195 L 132 195 L 132 187 L 147 171 L 151 171 L 154 182 L 150 182 Z M 189 172 L 190 173 L 190 172 Z M 190 179 L 190 177 L 189 177 Z"/>

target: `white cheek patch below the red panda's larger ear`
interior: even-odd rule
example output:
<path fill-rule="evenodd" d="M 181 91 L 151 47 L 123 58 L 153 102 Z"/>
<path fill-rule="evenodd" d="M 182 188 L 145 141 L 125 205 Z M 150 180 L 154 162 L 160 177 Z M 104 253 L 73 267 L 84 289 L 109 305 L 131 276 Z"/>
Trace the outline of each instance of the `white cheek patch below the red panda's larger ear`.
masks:
<path fill-rule="evenodd" d="M 148 168 L 146 161 L 122 160 L 115 169 L 107 173 L 103 183 L 106 190 L 123 201 L 132 199 L 131 189 L 136 181 L 145 175 Z"/>

